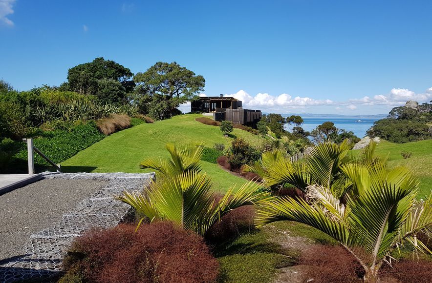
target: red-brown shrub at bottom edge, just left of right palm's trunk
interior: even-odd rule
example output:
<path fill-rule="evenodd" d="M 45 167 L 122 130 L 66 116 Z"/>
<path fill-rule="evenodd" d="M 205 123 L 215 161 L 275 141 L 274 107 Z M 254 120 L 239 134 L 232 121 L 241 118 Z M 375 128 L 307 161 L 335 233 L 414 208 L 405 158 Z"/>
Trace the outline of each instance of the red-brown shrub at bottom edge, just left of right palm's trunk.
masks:
<path fill-rule="evenodd" d="M 341 246 L 314 245 L 303 252 L 300 264 L 304 282 L 363 282 L 363 267 Z"/>

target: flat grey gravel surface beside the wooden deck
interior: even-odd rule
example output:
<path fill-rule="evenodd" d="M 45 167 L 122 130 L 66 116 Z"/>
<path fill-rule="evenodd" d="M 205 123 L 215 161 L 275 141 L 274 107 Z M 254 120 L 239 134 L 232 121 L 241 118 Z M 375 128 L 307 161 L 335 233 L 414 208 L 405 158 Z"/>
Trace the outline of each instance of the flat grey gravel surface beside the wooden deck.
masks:
<path fill-rule="evenodd" d="M 31 234 L 52 226 L 78 202 L 107 184 L 43 179 L 0 196 L 0 260 L 16 256 Z"/>

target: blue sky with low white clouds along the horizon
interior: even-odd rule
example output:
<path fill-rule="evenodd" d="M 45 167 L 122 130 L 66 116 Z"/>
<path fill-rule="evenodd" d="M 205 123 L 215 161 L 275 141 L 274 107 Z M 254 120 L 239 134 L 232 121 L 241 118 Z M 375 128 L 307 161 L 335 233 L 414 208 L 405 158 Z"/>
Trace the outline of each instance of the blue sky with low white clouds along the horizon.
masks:
<path fill-rule="evenodd" d="M 432 100 L 431 0 L 0 0 L 0 78 L 58 85 L 95 57 L 177 61 L 205 95 L 279 113 L 388 113 Z"/>

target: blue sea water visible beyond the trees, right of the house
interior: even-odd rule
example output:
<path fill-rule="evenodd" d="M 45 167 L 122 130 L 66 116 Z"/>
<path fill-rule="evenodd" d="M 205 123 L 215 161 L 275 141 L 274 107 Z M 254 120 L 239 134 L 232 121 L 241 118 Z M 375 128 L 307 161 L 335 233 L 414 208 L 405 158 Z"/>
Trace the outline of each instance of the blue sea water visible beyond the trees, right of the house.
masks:
<path fill-rule="evenodd" d="M 364 117 L 304 117 L 302 125 L 305 131 L 312 131 L 318 125 L 325 121 L 332 121 L 338 129 L 352 131 L 357 137 L 366 136 L 366 131 L 373 126 L 374 121 L 382 118 L 364 118 Z M 291 132 L 291 127 L 285 124 L 285 129 Z"/>

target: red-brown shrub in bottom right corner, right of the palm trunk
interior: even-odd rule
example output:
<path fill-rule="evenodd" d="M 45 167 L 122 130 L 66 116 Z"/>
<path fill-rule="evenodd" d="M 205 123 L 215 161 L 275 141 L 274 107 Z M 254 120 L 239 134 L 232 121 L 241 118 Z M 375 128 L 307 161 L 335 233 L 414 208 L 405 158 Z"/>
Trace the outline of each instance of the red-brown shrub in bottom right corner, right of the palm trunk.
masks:
<path fill-rule="evenodd" d="M 392 266 L 383 264 L 379 277 L 387 283 L 429 283 L 432 282 L 432 262 L 425 260 L 400 260 Z"/>

